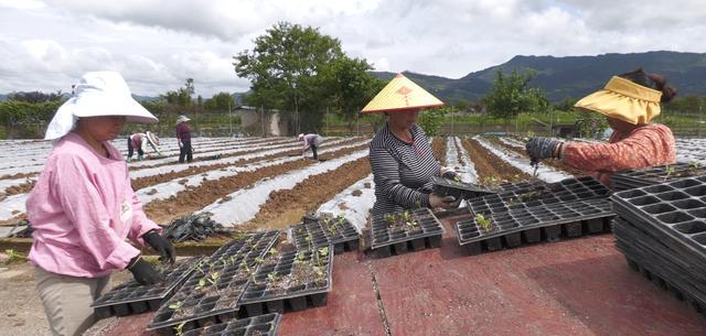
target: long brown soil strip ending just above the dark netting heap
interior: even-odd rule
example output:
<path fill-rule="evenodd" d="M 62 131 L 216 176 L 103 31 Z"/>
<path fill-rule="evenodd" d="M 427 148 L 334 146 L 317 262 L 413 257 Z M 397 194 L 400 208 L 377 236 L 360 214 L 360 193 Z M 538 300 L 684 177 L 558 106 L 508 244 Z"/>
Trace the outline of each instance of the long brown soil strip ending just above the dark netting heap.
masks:
<path fill-rule="evenodd" d="M 367 143 L 342 149 L 335 152 L 320 155 L 322 160 L 332 160 L 351 154 L 355 151 L 364 150 Z M 225 197 L 242 188 L 248 188 L 256 182 L 281 175 L 289 171 L 303 169 L 308 165 L 315 164 L 312 160 L 297 160 L 286 162 L 278 165 L 263 167 L 253 172 L 227 176 L 218 180 L 204 181 L 199 186 L 188 186 L 186 189 L 179 192 L 167 199 L 152 200 L 145 205 L 147 216 L 158 224 L 169 224 L 171 220 L 181 216 L 191 215 L 203 207 L 216 202 L 218 198 Z"/>

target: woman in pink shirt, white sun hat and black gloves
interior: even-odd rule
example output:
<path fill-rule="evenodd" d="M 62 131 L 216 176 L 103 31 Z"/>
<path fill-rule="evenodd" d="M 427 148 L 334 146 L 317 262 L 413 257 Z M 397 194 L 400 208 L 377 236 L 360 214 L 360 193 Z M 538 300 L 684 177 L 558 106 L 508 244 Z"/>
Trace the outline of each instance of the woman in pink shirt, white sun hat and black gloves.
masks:
<path fill-rule="evenodd" d="M 122 154 L 110 144 L 125 121 L 157 122 L 115 72 L 87 73 L 44 139 L 54 140 L 26 200 L 34 242 L 30 260 L 53 335 L 82 335 L 95 322 L 90 303 L 110 273 L 127 269 L 142 284 L 159 281 L 136 246 L 174 260 L 174 248 L 142 212 Z"/>

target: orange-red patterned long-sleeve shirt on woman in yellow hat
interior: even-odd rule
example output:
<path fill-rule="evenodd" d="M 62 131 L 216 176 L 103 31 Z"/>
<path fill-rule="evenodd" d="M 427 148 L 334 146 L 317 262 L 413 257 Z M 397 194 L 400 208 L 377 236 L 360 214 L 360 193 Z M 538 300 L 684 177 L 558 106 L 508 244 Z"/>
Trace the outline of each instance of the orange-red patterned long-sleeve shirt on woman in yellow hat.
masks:
<path fill-rule="evenodd" d="M 566 165 L 591 172 L 610 186 L 614 172 L 674 163 L 674 142 L 668 127 L 650 123 L 627 134 L 614 131 L 608 143 L 567 142 L 561 154 Z"/>

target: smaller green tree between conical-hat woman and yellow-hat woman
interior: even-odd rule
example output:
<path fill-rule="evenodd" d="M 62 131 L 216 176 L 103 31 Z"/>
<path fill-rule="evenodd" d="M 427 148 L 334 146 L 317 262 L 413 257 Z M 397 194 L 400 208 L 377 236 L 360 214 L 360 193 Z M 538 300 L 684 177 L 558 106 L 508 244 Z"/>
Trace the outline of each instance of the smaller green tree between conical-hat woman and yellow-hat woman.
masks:
<path fill-rule="evenodd" d="M 549 102 L 541 89 L 530 87 L 532 78 L 532 72 L 518 74 L 513 71 L 505 75 L 502 69 L 498 71 L 493 88 L 483 98 L 490 115 L 504 119 L 507 126 L 513 117 L 522 112 L 546 112 Z"/>

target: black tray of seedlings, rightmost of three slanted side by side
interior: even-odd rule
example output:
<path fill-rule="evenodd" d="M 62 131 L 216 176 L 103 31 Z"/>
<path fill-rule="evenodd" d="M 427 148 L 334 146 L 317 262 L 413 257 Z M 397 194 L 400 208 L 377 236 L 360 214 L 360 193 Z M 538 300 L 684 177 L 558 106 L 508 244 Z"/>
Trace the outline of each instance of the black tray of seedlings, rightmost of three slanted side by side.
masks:
<path fill-rule="evenodd" d="M 281 252 L 272 262 L 264 263 L 248 284 L 239 304 L 240 316 L 301 311 L 327 304 L 331 291 L 333 253 L 331 247 Z M 314 253 L 317 253 L 314 256 Z M 321 273 L 317 273 L 317 270 Z M 297 280 L 297 277 L 310 277 Z M 293 286 L 279 286 L 290 284 Z"/>

